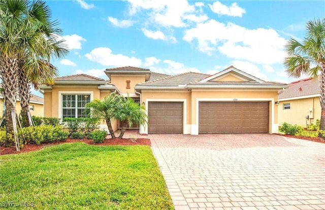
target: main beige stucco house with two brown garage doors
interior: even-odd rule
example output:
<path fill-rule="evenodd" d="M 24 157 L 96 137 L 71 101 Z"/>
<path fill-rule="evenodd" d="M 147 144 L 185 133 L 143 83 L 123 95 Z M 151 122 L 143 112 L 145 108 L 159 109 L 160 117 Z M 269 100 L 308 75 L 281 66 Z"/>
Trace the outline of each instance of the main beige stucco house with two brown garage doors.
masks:
<path fill-rule="evenodd" d="M 45 117 L 85 117 L 85 104 L 117 92 L 146 108 L 149 125 L 140 133 L 277 133 L 278 91 L 286 84 L 266 82 L 230 66 L 215 75 L 174 76 L 132 66 L 108 68 L 110 79 L 89 75 L 59 77 L 44 85 Z M 118 122 L 113 123 L 118 129 Z"/>

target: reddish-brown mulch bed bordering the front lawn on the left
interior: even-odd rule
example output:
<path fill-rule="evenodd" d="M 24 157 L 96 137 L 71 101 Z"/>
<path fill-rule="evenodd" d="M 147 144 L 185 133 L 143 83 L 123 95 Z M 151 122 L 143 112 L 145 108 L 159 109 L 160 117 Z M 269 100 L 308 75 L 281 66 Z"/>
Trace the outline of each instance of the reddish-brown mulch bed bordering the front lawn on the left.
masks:
<path fill-rule="evenodd" d="M 131 138 L 106 138 L 103 143 L 94 143 L 92 139 L 67 139 L 64 142 L 46 143 L 41 145 L 27 144 L 20 151 L 16 151 L 16 147 L 0 147 L 0 155 L 16 154 L 16 153 L 26 153 L 36 150 L 41 150 L 44 147 L 73 143 L 73 142 L 84 142 L 88 145 L 96 146 L 107 146 L 107 145 L 148 145 L 151 146 L 149 138 L 138 138 L 136 142 L 133 142 Z"/>

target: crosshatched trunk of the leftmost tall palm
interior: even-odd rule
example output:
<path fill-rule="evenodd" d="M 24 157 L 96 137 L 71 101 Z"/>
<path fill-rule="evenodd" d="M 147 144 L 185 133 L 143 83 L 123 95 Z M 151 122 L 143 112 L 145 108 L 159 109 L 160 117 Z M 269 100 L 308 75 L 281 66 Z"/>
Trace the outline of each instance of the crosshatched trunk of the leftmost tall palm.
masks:
<path fill-rule="evenodd" d="M 0 71 L 1 79 L 4 86 L 4 98 L 6 106 L 6 134 L 7 143 L 10 145 L 12 139 L 9 139 L 8 134 L 14 134 L 14 123 L 16 123 L 16 97 L 17 97 L 17 68 L 18 60 L 8 56 L 0 56 L 0 66 L 3 69 Z M 14 113 L 14 115 L 12 114 Z M 17 145 L 18 144 L 18 145 Z M 19 143 L 16 139 L 16 148 L 19 150 Z"/>

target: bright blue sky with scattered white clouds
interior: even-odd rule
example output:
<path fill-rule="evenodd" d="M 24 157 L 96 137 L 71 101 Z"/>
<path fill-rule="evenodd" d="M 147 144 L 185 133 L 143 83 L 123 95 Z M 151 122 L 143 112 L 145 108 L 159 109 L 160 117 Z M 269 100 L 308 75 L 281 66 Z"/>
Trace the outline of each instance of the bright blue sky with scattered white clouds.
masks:
<path fill-rule="evenodd" d="M 325 1 L 47 1 L 70 53 L 51 60 L 60 76 L 108 79 L 106 68 L 215 74 L 234 65 L 289 83 L 283 45 L 325 16 Z"/>

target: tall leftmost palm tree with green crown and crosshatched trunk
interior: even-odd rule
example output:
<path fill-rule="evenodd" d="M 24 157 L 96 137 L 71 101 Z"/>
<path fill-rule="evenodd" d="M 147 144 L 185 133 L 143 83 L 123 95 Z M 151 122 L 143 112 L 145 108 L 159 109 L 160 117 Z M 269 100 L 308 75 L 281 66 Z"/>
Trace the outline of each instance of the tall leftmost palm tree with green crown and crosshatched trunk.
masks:
<path fill-rule="evenodd" d="M 57 22 L 50 21 L 50 16 L 49 7 L 42 1 L 0 2 L 0 77 L 4 86 L 7 134 L 16 132 L 19 72 L 24 71 L 24 78 L 29 78 L 31 69 L 41 69 L 35 68 L 40 66 L 37 65 L 39 61 L 49 60 L 53 54 L 57 56 L 58 52 L 47 46 L 49 43 L 56 43 L 58 48 L 63 49 L 59 55 L 68 52 L 62 47 L 62 41 L 55 41 L 56 34 L 61 30 L 56 27 Z M 18 139 L 15 138 L 19 150 Z"/>

